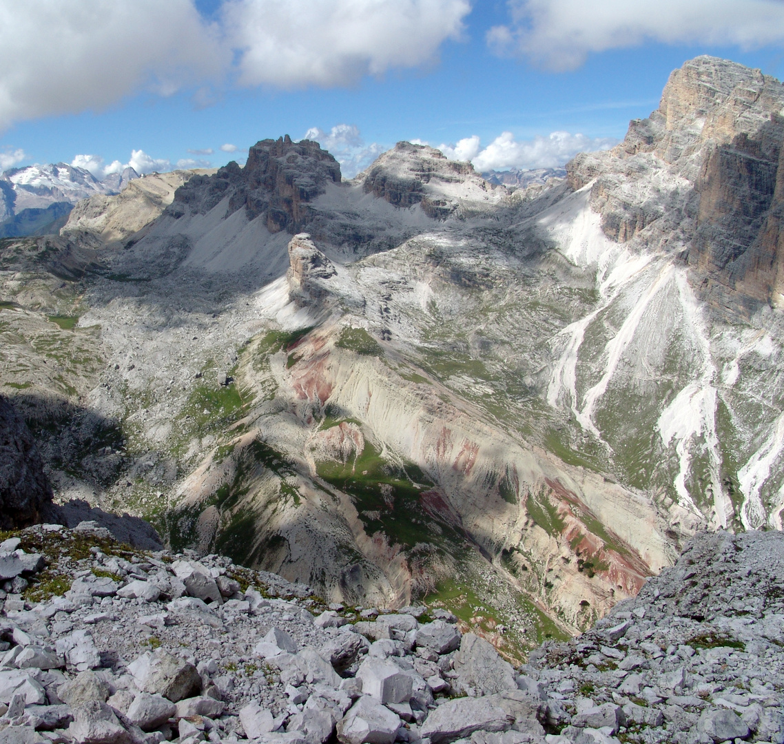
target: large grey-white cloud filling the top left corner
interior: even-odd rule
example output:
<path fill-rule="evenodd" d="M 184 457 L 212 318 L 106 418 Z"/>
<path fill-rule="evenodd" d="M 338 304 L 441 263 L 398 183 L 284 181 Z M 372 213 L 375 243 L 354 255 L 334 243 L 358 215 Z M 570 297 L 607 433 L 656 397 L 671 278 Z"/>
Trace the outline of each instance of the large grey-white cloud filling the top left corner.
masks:
<path fill-rule="evenodd" d="M 229 50 L 192 0 L 0 2 L 0 130 L 216 79 Z"/>

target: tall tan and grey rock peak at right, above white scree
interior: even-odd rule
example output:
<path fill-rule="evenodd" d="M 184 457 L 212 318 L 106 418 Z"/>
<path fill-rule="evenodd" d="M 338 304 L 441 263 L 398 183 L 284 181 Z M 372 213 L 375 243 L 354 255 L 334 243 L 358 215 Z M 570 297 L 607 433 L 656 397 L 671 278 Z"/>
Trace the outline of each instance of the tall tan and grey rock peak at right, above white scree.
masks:
<path fill-rule="evenodd" d="M 649 118 L 631 122 L 613 151 L 579 155 L 568 178 L 575 189 L 593 181 L 608 238 L 688 244 L 695 284 L 778 305 L 782 105 L 775 78 L 697 57 L 670 74 Z M 641 187 L 652 179 L 657 191 Z"/>

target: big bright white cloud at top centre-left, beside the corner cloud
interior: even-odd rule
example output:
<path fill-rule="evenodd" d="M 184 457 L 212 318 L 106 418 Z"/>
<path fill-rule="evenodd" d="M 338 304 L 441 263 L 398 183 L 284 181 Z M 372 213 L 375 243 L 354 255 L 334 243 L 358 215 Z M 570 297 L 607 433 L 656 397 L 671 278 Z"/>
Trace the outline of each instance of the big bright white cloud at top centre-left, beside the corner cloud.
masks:
<path fill-rule="evenodd" d="M 418 67 L 459 38 L 469 0 L 227 0 L 241 85 L 346 85 Z"/>

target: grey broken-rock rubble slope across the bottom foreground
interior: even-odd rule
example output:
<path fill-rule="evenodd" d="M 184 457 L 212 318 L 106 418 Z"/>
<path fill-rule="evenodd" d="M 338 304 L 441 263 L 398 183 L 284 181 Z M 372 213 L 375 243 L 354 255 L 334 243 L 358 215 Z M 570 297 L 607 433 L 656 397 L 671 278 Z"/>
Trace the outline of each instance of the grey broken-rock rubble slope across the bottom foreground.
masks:
<path fill-rule="evenodd" d="M 698 535 L 515 670 L 450 613 L 325 606 L 95 522 L 0 544 L 0 744 L 784 742 L 784 535 Z"/>

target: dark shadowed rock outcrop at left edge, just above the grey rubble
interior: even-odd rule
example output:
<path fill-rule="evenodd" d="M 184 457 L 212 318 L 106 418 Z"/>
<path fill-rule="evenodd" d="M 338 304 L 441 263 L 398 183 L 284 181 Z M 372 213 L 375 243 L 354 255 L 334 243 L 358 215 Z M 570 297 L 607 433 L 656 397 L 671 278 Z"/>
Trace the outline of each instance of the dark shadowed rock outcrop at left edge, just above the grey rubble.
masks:
<path fill-rule="evenodd" d="M 24 419 L 0 397 L 0 528 L 38 521 L 52 503 L 52 487 Z"/>

